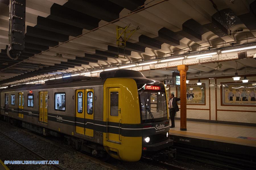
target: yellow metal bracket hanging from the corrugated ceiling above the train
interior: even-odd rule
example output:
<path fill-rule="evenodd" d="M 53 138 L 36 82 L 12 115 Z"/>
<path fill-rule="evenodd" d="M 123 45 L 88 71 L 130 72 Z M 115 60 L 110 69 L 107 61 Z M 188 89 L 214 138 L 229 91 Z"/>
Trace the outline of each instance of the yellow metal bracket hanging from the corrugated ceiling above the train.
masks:
<path fill-rule="evenodd" d="M 124 58 L 125 58 L 125 46 L 126 46 L 127 40 L 133 35 L 133 33 L 136 30 L 140 29 L 139 26 L 138 26 L 135 29 L 127 31 L 127 28 L 130 27 L 130 26 L 131 26 L 131 24 L 127 25 L 126 27 L 120 27 L 118 25 L 116 26 L 117 57 L 119 57 L 119 48 L 122 47 Z M 129 34 L 128 37 L 127 37 L 127 34 Z M 123 58 L 123 57 L 121 57 L 121 58 Z"/>

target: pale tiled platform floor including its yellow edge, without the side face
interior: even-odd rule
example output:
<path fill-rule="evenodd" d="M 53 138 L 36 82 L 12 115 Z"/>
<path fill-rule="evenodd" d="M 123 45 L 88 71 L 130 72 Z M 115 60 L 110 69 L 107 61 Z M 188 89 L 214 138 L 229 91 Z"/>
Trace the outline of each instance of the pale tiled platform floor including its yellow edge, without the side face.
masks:
<path fill-rule="evenodd" d="M 187 131 L 181 131 L 180 121 L 175 120 L 175 128 L 170 129 L 170 135 L 256 147 L 256 127 L 249 126 L 187 121 Z"/>

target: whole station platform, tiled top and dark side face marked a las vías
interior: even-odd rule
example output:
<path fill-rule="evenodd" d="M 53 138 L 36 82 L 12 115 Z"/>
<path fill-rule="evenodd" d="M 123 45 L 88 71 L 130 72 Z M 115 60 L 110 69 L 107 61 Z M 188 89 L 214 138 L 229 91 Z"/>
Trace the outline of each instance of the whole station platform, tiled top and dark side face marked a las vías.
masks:
<path fill-rule="evenodd" d="M 256 156 L 256 127 L 187 121 L 181 131 L 175 120 L 169 132 L 176 144 Z"/>

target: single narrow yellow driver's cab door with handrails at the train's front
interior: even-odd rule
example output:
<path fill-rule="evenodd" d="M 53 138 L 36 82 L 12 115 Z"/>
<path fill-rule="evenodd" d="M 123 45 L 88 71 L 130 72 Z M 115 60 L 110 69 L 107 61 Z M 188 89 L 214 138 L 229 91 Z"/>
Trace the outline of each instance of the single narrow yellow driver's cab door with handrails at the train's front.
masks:
<path fill-rule="evenodd" d="M 119 94 L 120 88 L 109 88 L 108 90 L 107 141 L 115 144 L 121 144 L 121 103 Z"/>

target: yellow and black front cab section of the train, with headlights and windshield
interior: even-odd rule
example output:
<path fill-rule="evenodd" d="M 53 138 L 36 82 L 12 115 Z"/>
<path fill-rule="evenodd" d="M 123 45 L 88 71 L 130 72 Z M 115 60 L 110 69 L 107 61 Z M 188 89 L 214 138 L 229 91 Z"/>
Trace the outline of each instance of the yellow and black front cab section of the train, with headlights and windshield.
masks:
<path fill-rule="evenodd" d="M 114 158 L 138 161 L 141 156 L 156 160 L 173 158 L 176 150 L 169 139 L 165 86 L 137 71 L 102 72 L 104 118 L 107 122 L 103 145 Z M 110 102 L 110 103 L 108 103 Z"/>

